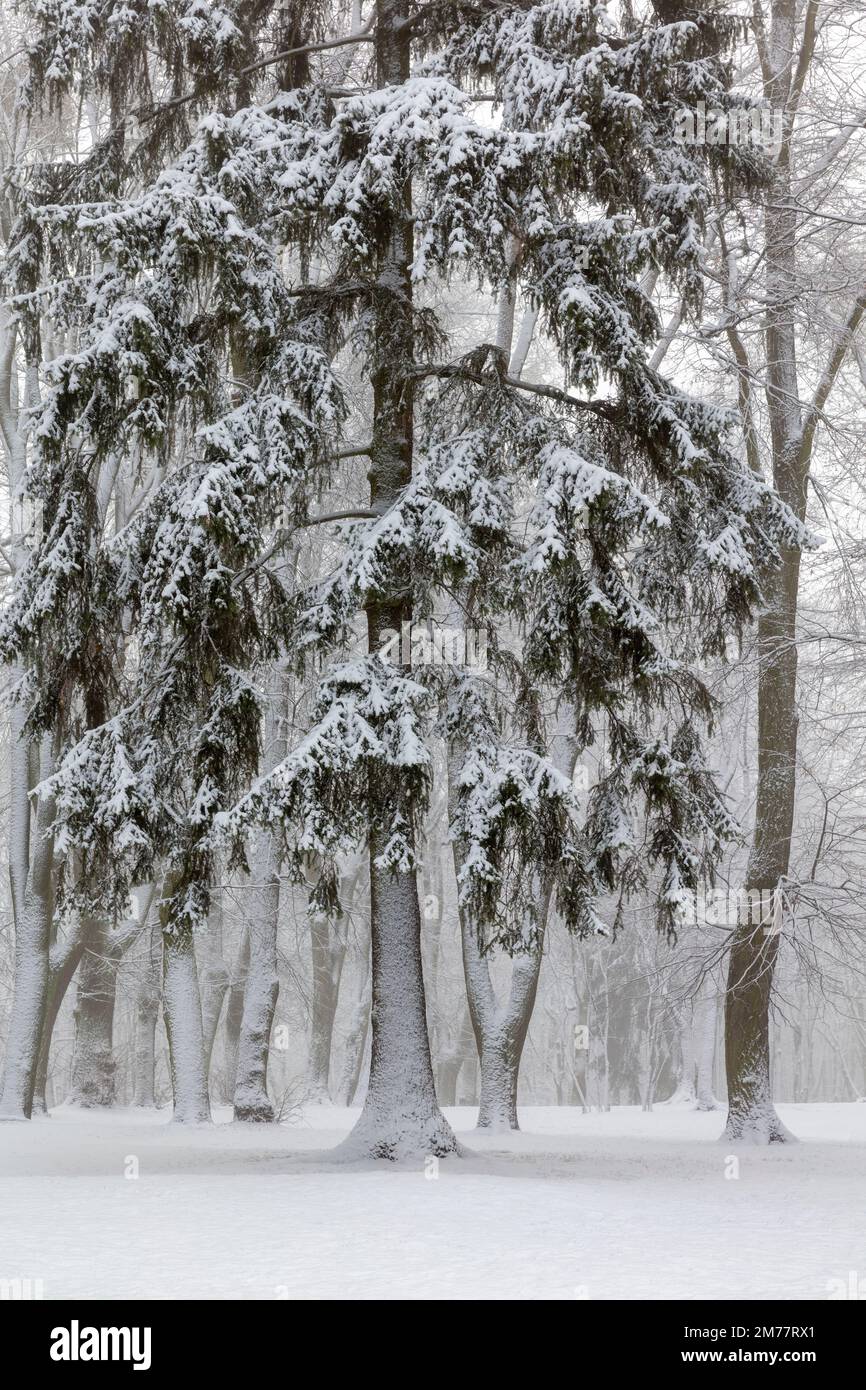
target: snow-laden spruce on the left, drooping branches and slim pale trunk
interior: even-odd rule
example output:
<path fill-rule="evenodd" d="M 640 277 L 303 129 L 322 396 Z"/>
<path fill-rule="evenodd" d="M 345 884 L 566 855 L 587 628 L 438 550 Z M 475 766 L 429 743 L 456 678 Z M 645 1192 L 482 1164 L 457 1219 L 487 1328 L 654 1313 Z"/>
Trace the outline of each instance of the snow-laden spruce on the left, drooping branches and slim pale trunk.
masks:
<path fill-rule="evenodd" d="M 6 616 L 4 642 L 29 667 L 31 737 L 50 730 L 67 751 L 58 851 L 79 842 L 83 872 L 75 885 L 65 873 L 65 901 L 115 912 L 132 883 L 164 874 L 172 1077 L 177 1113 L 190 1119 L 207 1112 L 192 927 L 206 910 L 211 867 L 193 827 L 211 785 L 236 777 L 239 790 L 256 766 L 257 699 L 242 673 L 275 649 L 267 599 L 253 598 L 270 580 L 245 581 L 240 570 L 256 549 L 263 498 L 274 495 L 274 513 L 292 512 L 288 475 L 314 452 L 307 393 L 321 388 L 328 418 L 339 406 L 316 342 L 303 331 L 279 334 L 291 306 L 271 246 L 240 227 L 234 238 L 218 175 L 206 186 L 229 152 L 211 158 L 202 135 L 158 185 L 147 188 L 142 170 L 160 150 L 185 149 L 196 104 L 242 100 L 239 74 L 261 53 L 243 21 L 256 10 L 271 49 L 286 17 L 268 24 L 270 8 L 235 7 L 232 18 L 195 3 L 35 4 L 29 100 L 61 100 L 75 86 L 111 117 L 82 164 L 28 171 L 10 257 L 22 334 L 38 343 L 47 320 L 78 349 L 44 373 L 31 478 L 44 537 Z M 195 103 L 150 110 L 157 93 L 188 86 L 200 93 Z M 138 133 L 136 101 L 149 117 Z M 282 374 L 271 360 L 285 375 L 279 389 L 272 377 L 270 385 L 256 378 L 257 393 L 232 386 L 229 360 L 254 374 L 268 336 L 293 363 Z M 314 321 L 307 336 L 316 338 Z M 293 379 L 299 402 L 289 398 Z M 193 442 L 203 423 L 215 434 Z M 257 435 L 268 439 L 261 464 Z M 153 493 L 117 535 L 97 496 L 106 468 L 138 473 L 142 492 Z M 89 798 L 99 802 L 93 819 Z"/>

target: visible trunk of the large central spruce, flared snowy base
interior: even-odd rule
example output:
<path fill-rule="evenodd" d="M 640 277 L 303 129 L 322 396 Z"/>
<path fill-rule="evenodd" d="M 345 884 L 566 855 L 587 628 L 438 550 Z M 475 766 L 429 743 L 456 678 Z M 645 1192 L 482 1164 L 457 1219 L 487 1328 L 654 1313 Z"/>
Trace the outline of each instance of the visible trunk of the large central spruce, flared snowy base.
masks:
<path fill-rule="evenodd" d="M 410 0 L 377 0 L 377 83 L 410 76 Z M 411 189 L 402 210 L 382 217 L 377 295 L 374 296 L 371 506 L 389 507 L 411 478 L 411 391 L 403 375 L 414 359 L 411 316 Z M 382 649 L 391 632 L 411 621 L 405 600 L 367 607 L 368 649 Z M 439 1111 L 434 1086 L 421 967 L 421 910 L 414 873 L 377 865 L 388 837 L 370 835 L 370 922 L 373 959 L 373 1048 L 370 1084 L 360 1119 L 343 1145 L 346 1154 L 374 1158 L 425 1158 L 457 1152 Z"/>

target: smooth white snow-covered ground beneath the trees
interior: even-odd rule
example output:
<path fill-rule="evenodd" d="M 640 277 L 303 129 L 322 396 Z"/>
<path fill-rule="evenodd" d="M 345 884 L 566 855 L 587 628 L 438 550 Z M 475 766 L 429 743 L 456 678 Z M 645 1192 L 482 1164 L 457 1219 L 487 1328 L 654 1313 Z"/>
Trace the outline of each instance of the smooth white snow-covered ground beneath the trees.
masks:
<path fill-rule="evenodd" d="M 866 1105 L 780 1109 L 802 1143 L 735 1155 L 721 1112 L 524 1108 L 523 1133 L 482 1138 L 449 1111 L 471 1152 L 438 1173 L 329 1161 L 341 1109 L 272 1130 L 60 1109 L 0 1125 L 0 1280 L 46 1298 L 827 1298 L 853 1272 L 866 1294 Z"/>

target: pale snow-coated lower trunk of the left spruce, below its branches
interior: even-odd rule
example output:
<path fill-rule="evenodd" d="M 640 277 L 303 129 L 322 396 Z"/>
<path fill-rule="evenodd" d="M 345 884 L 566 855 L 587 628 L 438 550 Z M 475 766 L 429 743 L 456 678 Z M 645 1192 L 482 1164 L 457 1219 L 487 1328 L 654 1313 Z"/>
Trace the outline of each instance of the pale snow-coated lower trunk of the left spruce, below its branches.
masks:
<path fill-rule="evenodd" d="M 163 1008 L 168 1034 L 174 1120 L 202 1125 L 210 1120 L 204 1031 L 196 952 L 189 929 L 171 929 L 168 899 L 175 890 L 170 874 L 163 885 L 160 926 L 163 929 Z"/>

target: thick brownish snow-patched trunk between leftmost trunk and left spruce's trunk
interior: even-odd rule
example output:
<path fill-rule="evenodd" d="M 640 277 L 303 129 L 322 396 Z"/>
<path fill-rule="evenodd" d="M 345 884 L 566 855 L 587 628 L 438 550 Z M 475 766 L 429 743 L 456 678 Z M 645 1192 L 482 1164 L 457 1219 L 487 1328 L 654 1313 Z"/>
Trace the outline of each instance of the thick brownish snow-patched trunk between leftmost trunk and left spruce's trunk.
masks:
<path fill-rule="evenodd" d="M 114 1105 L 115 1098 L 113 1034 L 120 951 L 104 919 L 88 917 L 82 927 L 70 1102 L 89 1109 Z"/>

